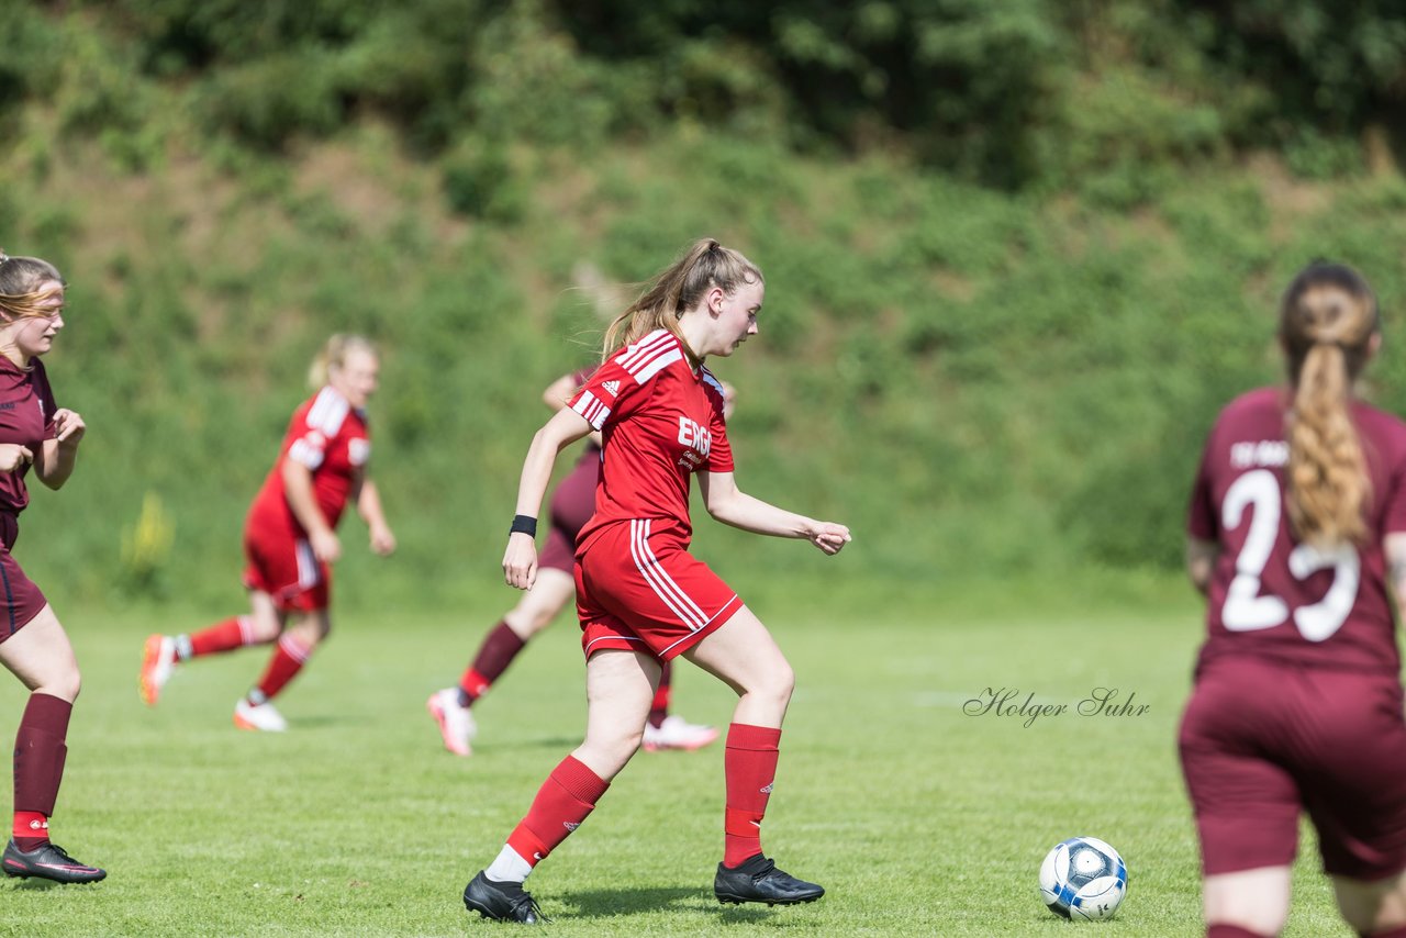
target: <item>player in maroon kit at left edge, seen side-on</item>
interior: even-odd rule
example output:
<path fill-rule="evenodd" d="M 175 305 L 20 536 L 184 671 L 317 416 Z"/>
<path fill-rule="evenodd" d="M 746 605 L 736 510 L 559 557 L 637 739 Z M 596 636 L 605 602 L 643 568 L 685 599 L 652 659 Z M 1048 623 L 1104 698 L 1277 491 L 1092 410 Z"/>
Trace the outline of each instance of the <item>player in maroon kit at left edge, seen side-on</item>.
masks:
<path fill-rule="evenodd" d="M 14 827 L 0 865 L 8 876 L 91 883 L 107 873 L 49 841 L 79 665 L 53 609 L 10 553 L 30 503 L 30 467 L 60 488 L 86 430 L 83 418 L 53 402 L 39 361 L 63 329 L 63 288 L 53 264 L 0 252 L 0 664 L 30 689 L 14 741 Z"/>

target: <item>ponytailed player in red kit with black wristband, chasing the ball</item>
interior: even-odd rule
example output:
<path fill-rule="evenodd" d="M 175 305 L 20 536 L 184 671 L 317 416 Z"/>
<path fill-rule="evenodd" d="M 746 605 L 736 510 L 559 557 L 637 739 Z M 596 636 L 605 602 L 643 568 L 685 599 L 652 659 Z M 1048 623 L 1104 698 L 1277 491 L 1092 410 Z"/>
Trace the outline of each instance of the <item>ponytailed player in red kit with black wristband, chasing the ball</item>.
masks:
<path fill-rule="evenodd" d="M 533 866 L 574 831 L 640 748 L 659 662 L 683 655 L 738 693 L 728 727 L 721 901 L 790 904 L 824 894 L 762 855 L 761 823 L 776 772 L 794 675 L 735 592 L 688 553 L 689 480 L 718 520 L 810 540 L 825 554 L 849 541 L 818 522 L 744 495 L 733 478 L 723 390 L 703 367 L 756 333 L 762 273 L 716 240 L 695 243 L 606 333 L 606 360 L 533 437 L 503 555 L 510 585 L 537 577 L 536 516 L 562 447 L 599 430 L 596 510 L 576 544 L 576 612 L 586 654 L 586 738 L 543 783 L 498 858 L 464 889 L 486 918 L 534 923 L 523 890 Z"/>

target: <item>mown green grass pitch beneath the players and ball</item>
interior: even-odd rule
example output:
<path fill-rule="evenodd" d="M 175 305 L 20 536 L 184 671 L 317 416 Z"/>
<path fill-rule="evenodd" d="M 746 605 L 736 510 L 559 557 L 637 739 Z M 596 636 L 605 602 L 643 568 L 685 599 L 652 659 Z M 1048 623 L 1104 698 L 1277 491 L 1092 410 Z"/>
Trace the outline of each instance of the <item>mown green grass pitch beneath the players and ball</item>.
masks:
<path fill-rule="evenodd" d="M 752 605 L 799 689 L 765 845 L 828 894 L 793 908 L 718 906 L 721 747 L 640 754 L 529 883 L 553 934 L 1202 934 L 1174 751 L 1201 629 L 1188 589 L 972 585 L 876 602 L 837 581 L 797 586 L 804 598 L 790 602 L 776 592 Z M 263 650 L 179 671 L 156 710 L 136 698 L 143 636 L 224 610 L 112 617 L 60 603 L 84 692 L 53 835 L 110 875 L 90 887 L 0 883 L 0 934 L 505 934 L 468 918 L 460 893 L 579 738 L 574 623 L 558 622 L 481 702 L 471 759 L 440 748 L 423 705 L 510 599 L 505 589 L 463 615 L 380 622 L 374 603 L 344 610 L 280 700 L 284 735 L 231 726 Z M 988 688 L 1070 710 L 1031 726 L 963 713 Z M 1095 688 L 1149 709 L 1077 714 Z M 675 693 L 689 719 L 728 721 L 730 693 L 692 667 Z M 17 682 L 0 688 L 4 734 L 22 699 Z M 1040 859 L 1074 834 L 1128 861 L 1129 896 L 1111 923 L 1069 924 L 1038 899 Z M 1347 935 L 1310 840 L 1303 854 L 1285 934 Z"/>

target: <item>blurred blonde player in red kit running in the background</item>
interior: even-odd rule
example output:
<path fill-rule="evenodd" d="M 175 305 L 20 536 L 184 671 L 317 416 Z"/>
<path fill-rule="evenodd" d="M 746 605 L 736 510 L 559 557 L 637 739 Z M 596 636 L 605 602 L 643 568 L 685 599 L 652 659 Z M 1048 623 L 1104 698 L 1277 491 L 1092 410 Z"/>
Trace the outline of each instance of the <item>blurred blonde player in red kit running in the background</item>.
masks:
<path fill-rule="evenodd" d="M 373 551 L 387 557 L 395 550 L 381 496 L 367 474 L 371 437 L 366 405 L 380 368 L 375 346 L 367 339 L 336 335 L 328 340 L 309 374 L 318 391 L 294 412 L 278 461 L 245 522 L 245 586 L 252 613 L 193 636 L 149 637 L 139 683 L 148 705 L 156 705 L 179 661 L 277 641 L 263 678 L 235 705 L 235 726 L 274 733 L 288 728 L 271 700 L 332 629 L 332 564 L 342 555 L 336 527 L 347 503 L 366 520 Z"/>

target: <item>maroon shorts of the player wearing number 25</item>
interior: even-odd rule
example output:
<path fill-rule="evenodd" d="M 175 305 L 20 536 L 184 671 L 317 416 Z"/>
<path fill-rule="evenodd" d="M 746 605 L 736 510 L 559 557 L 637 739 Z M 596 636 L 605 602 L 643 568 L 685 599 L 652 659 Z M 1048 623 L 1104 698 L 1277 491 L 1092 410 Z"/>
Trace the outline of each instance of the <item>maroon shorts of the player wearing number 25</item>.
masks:
<path fill-rule="evenodd" d="M 1374 880 L 1406 869 L 1406 720 L 1395 675 L 1213 660 L 1178 745 L 1205 875 L 1292 863 L 1302 811 L 1329 875 Z"/>

